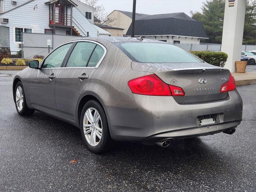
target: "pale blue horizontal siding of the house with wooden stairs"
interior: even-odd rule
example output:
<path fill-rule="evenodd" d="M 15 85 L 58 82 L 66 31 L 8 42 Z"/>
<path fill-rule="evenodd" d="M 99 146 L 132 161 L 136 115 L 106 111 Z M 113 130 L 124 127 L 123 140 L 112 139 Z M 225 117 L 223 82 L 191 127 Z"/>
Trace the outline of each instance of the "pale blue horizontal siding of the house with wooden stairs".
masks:
<path fill-rule="evenodd" d="M 12 54 L 15 54 L 20 49 L 18 48 L 18 43 L 14 40 L 13 27 L 22 27 L 22 28 L 32 28 L 34 33 L 44 33 L 44 29 L 52 29 L 49 27 L 49 6 L 45 5 L 46 0 L 34 0 L 24 6 L 12 10 L 6 14 L 1 15 L 1 18 L 8 18 L 8 24 L 0 24 L 1 26 L 6 26 L 10 28 L 10 50 Z M 34 6 L 38 5 L 38 8 L 34 10 Z M 70 11 L 70 10 L 69 10 Z M 73 18 L 86 30 L 90 36 L 97 36 L 97 30 L 94 26 L 77 10 L 73 8 Z M 73 19 L 74 20 L 74 19 Z M 76 25 L 73 24 L 74 27 Z M 57 29 L 56 34 L 66 34 L 66 28 Z M 65 30 L 65 31 L 64 31 Z M 77 29 L 82 36 L 85 34 Z"/>

